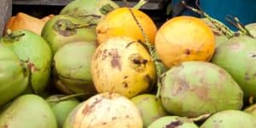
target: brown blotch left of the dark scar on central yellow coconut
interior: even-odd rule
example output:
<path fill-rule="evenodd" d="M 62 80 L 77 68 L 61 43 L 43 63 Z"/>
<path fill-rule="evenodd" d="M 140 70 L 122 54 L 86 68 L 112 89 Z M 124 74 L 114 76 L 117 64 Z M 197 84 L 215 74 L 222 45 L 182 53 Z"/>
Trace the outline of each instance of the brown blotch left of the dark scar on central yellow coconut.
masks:
<path fill-rule="evenodd" d="M 112 49 L 110 52 L 108 52 L 108 55 L 112 57 L 111 60 L 111 67 L 118 68 L 119 71 L 121 71 L 121 64 L 120 64 L 120 58 L 121 56 L 118 53 L 117 49 Z"/>

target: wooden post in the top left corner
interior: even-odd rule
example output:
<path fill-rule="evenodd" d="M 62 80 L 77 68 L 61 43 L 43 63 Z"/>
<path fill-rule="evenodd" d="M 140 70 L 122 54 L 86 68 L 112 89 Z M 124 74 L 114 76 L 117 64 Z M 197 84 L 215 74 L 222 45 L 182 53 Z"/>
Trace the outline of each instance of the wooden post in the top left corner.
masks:
<path fill-rule="evenodd" d="M 9 20 L 12 13 L 12 1 L 0 0 L 0 37 L 3 35 L 5 22 Z"/>

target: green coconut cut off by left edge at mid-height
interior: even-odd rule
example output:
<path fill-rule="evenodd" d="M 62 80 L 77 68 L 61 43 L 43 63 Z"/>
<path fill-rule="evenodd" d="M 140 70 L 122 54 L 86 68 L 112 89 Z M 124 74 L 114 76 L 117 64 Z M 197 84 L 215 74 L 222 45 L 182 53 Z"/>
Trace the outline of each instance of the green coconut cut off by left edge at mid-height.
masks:
<path fill-rule="evenodd" d="M 28 70 L 15 52 L 0 46 L 0 106 L 19 96 L 28 84 Z"/>

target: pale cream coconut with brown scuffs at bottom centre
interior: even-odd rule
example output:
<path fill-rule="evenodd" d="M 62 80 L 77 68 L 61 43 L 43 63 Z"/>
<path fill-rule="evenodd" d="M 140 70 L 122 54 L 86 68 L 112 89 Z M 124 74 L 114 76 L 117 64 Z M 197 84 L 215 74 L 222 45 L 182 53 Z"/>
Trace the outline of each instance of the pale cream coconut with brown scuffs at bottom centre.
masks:
<path fill-rule="evenodd" d="M 137 107 L 125 96 L 102 93 L 69 113 L 63 128 L 143 128 Z"/>

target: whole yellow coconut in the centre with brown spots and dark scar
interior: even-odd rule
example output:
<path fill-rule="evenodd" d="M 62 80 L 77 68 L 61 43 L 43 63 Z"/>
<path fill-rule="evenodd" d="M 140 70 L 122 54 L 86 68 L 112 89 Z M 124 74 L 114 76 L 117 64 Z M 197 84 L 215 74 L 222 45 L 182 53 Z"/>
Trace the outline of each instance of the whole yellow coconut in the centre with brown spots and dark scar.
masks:
<path fill-rule="evenodd" d="M 91 73 L 98 92 L 118 92 L 127 97 L 148 92 L 156 79 L 147 49 L 126 37 L 109 38 L 97 47 Z"/>

